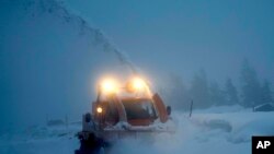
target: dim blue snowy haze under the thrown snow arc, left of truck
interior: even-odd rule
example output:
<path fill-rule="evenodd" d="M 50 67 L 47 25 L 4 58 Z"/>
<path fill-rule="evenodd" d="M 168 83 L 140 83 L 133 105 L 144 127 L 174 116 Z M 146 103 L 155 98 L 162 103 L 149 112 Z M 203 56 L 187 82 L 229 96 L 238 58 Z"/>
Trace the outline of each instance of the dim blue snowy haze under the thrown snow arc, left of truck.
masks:
<path fill-rule="evenodd" d="M 1 1 L 0 22 L 0 131 L 66 115 L 79 120 L 90 111 L 100 76 L 136 72 L 123 51 L 62 1 Z"/>

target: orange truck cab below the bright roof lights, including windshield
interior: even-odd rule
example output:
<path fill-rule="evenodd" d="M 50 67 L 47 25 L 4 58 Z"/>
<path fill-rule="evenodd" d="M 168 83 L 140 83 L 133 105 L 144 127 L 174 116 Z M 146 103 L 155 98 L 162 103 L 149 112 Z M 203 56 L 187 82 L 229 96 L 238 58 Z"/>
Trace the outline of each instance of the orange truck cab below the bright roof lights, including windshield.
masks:
<path fill-rule="evenodd" d="M 135 126 L 150 126 L 157 119 L 165 122 L 169 119 L 165 105 L 158 94 L 153 97 L 117 98 L 113 95 L 107 102 L 93 103 L 94 120 L 101 123 L 102 129 L 127 122 Z"/>

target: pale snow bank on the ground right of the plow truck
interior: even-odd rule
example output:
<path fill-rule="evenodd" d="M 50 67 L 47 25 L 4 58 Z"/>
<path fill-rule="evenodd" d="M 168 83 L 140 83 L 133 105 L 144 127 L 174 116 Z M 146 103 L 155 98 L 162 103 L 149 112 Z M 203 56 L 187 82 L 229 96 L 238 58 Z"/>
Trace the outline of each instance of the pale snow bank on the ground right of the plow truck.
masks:
<path fill-rule="evenodd" d="M 236 111 L 237 107 L 219 107 L 222 114 L 212 114 L 208 109 L 193 114 L 174 114 L 179 129 L 175 134 L 160 134 L 153 142 L 125 140 L 117 143 L 113 153 L 139 154 L 231 154 L 251 153 L 252 135 L 274 134 L 274 112 Z M 227 111 L 226 111 L 227 110 Z"/>

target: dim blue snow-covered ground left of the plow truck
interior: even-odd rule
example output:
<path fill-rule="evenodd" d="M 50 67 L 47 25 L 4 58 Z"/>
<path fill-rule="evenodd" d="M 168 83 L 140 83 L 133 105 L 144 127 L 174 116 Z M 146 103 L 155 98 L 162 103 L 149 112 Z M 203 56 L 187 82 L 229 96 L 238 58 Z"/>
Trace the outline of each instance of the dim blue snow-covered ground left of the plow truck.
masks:
<path fill-rule="evenodd" d="M 80 125 L 30 127 L 0 134 L 1 154 L 60 154 L 73 153 L 79 146 L 75 137 Z"/>

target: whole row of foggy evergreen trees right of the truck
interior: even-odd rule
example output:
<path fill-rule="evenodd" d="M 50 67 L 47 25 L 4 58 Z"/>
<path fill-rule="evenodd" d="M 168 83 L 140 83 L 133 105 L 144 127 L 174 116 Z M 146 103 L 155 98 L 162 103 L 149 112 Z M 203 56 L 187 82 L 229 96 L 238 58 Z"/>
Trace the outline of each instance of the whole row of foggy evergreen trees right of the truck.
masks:
<path fill-rule="evenodd" d="M 169 87 L 162 90 L 163 97 L 176 109 L 189 109 L 193 100 L 195 108 L 210 106 L 241 105 L 254 107 L 265 103 L 273 103 L 273 93 L 269 80 L 260 81 L 254 68 L 248 60 L 241 66 L 239 87 L 228 78 L 222 86 L 207 79 L 206 72 L 201 69 L 194 74 L 190 87 L 186 87 L 181 76 L 170 74 Z"/>

